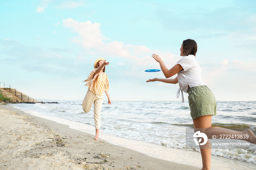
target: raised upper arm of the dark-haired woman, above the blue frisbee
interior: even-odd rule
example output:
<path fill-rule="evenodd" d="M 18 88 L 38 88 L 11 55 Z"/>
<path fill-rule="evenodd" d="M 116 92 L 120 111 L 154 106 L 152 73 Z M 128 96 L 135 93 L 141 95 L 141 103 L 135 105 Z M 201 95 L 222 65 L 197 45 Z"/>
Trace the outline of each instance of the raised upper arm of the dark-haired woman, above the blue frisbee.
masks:
<path fill-rule="evenodd" d="M 161 67 L 161 70 L 166 78 L 170 78 L 183 70 L 183 67 L 179 64 L 174 65 L 170 70 L 167 69 L 165 66 L 165 63 L 163 63 L 162 58 L 159 57 L 157 54 L 153 54 L 152 57 L 155 59 L 155 61 L 159 62 L 159 65 Z"/>

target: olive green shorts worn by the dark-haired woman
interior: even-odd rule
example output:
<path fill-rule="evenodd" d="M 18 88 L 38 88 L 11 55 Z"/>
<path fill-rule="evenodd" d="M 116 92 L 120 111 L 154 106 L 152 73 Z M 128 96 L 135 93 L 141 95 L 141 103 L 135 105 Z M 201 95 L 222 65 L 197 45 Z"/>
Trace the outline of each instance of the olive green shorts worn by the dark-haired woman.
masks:
<path fill-rule="evenodd" d="M 190 115 L 196 119 L 205 115 L 217 115 L 216 100 L 207 86 L 188 88 Z"/>

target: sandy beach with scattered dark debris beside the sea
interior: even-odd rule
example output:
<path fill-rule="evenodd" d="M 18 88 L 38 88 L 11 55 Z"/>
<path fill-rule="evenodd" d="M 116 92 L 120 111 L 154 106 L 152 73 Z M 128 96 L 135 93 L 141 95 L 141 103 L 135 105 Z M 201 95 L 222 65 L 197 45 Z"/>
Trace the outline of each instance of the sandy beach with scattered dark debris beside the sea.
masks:
<path fill-rule="evenodd" d="M 173 149 L 33 116 L 0 104 L 0 169 L 199 170 L 199 152 Z M 104 139 L 104 140 L 103 140 Z M 114 143 L 114 144 L 113 144 Z M 212 155 L 212 169 L 251 170 L 255 164 Z"/>

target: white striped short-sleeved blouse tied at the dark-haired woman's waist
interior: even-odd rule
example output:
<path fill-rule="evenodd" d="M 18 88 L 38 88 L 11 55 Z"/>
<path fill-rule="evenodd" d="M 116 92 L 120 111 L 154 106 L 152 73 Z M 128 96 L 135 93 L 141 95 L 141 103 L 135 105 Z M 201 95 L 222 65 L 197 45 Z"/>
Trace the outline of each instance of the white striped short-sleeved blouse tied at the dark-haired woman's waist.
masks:
<path fill-rule="evenodd" d="M 183 92 L 187 93 L 188 86 L 190 88 L 196 86 L 207 86 L 202 80 L 202 73 L 199 64 L 196 62 L 195 55 L 188 55 L 182 57 L 176 64 L 183 67 L 184 70 L 178 72 L 178 82 L 180 88 L 177 91 L 177 98 L 182 97 L 182 103 L 184 103 Z"/>

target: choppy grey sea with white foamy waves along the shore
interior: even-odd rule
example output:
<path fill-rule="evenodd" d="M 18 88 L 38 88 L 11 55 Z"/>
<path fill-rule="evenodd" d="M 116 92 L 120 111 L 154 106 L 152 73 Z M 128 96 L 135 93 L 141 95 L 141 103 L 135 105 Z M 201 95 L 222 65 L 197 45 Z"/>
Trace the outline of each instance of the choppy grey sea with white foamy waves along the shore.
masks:
<path fill-rule="evenodd" d="M 10 104 L 46 116 L 60 117 L 94 126 L 93 106 L 82 110 L 82 101 L 57 101 L 58 104 Z M 186 128 L 193 128 L 188 102 L 180 101 L 112 101 L 103 102 L 101 129 L 123 138 L 185 149 Z M 256 101 L 218 101 L 212 126 L 250 128 L 256 134 Z M 189 149 L 191 150 L 191 149 Z M 199 151 L 199 149 L 194 149 Z M 212 149 L 213 155 L 256 164 L 256 144 L 236 149 Z"/>

